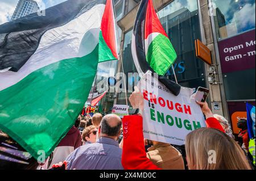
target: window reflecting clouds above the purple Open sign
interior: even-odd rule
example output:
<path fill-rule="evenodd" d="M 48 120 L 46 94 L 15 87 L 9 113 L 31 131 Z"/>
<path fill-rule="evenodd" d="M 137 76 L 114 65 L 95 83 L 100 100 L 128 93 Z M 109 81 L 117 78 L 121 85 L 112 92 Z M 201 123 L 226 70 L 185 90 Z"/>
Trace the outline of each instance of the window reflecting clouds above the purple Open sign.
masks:
<path fill-rule="evenodd" d="M 212 0 L 219 40 L 255 28 L 255 0 Z"/>

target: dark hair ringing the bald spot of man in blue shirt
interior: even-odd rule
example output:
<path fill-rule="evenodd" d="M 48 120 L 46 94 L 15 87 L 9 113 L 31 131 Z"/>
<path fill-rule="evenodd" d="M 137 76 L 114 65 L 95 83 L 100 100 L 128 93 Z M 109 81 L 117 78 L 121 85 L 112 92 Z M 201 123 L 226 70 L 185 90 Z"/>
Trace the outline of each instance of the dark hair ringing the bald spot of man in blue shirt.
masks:
<path fill-rule="evenodd" d="M 101 133 L 106 134 L 108 136 L 118 136 L 119 131 L 122 127 L 122 121 L 119 121 L 115 127 L 110 127 L 108 124 L 108 120 L 106 116 L 103 117 L 101 121 Z"/>

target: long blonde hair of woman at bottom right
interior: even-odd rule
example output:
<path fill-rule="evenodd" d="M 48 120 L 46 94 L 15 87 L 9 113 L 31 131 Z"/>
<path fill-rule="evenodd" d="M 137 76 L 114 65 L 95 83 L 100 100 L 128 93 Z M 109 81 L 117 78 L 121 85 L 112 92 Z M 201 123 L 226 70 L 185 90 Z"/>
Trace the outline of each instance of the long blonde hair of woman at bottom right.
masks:
<path fill-rule="evenodd" d="M 185 150 L 191 170 L 251 170 L 237 142 L 217 129 L 200 128 L 189 133 Z"/>

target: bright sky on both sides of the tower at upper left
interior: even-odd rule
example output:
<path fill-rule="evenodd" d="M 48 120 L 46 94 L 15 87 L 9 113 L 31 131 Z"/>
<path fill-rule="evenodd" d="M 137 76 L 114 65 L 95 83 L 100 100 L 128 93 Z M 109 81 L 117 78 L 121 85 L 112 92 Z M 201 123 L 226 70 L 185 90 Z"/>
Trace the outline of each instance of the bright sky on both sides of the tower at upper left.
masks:
<path fill-rule="evenodd" d="M 67 0 L 34 0 L 34 1 L 38 2 L 40 10 L 43 10 Z M 19 0 L 0 0 L 0 24 L 6 23 L 8 20 L 10 20 L 18 2 Z"/>

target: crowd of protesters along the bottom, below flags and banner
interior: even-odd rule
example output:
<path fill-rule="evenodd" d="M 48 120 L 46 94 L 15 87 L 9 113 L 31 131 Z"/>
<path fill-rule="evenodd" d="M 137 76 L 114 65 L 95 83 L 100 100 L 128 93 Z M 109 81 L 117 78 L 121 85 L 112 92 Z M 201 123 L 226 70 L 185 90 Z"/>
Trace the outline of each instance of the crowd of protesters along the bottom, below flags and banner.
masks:
<path fill-rule="evenodd" d="M 130 96 L 133 108 L 143 110 L 143 95 Z M 255 138 L 247 135 L 246 120 L 234 137 L 229 121 L 213 115 L 205 102 L 197 102 L 207 128 L 192 131 L 183 146 L 144 140 L 143 117 L 114 114 L 80 115 L 67 135 L 44 163 L 26 158 L 24 150 L 6 133 L 0 132 L 0 169 L 67 170 L 252 170 L 255 169 Z M 254 148 L 250 146 L 253 144 Z M 209 153 L 214 151 L 214 158 Z M 8 159 L 1 159 L 8 157 Z M 25 164 L 26 163 L 26 164 Z"/>

